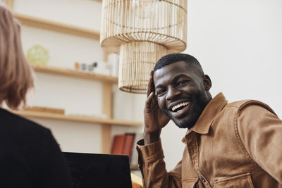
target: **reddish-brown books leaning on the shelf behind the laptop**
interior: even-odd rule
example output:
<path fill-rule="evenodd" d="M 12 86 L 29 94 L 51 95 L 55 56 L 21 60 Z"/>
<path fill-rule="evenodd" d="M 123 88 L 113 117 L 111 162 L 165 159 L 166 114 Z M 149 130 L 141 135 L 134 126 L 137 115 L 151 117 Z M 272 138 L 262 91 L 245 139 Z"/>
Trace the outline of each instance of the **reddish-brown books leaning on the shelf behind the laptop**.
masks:
<path fill-rule="evenodd" d="M 129 160 L 131 160 L 134 140 L 135 133 L 114 135 L 113 144 L 111 145 L 111 154 L 126 155 Z"/>

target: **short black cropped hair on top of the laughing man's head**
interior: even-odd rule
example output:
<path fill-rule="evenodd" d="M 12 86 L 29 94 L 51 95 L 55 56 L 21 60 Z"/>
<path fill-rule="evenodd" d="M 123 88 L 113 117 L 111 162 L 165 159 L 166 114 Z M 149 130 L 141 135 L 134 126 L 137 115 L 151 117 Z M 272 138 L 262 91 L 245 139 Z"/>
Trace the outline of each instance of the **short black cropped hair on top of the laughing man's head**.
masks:
<path fill-rule="evenodd" d="M 199 73 L 201 76 L 204 75 L 202 66 L 200 65 L 199 61 L 197 61 L 197 58 L 189 54 L 168 54 L 166 56 L 163 56 L 154 66 L 154 71 L 163 68 L 166 65 L 170 65 L 171 63 L 176 63 L 179 61 L 184 61 L 188 68 L 196 70 L 197 73 Z"/>

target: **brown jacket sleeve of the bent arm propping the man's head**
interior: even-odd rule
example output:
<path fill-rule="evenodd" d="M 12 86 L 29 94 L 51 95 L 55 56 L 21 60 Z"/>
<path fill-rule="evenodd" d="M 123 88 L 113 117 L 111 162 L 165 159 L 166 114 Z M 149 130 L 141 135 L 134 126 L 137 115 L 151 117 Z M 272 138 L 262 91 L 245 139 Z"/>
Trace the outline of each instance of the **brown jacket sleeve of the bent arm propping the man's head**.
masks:
<path fill-rule="evenodd" d="M 167 172 L 164 163 L 164 151 L 161 140 L 144 145 L 144 140 L 137 142 L 138 164 L 145 187 L 181 187 L 181 161 Z"/>

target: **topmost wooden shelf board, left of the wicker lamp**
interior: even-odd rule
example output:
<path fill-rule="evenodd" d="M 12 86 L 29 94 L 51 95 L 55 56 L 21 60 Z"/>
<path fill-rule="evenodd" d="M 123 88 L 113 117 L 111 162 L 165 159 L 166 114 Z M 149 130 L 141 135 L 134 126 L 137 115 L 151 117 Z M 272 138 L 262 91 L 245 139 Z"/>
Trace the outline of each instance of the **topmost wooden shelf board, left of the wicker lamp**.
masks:
<path fill-rule="evenodd" d="M 99 31 L 76 27 L 74 25 L 68 25 L 65 23 L 58 23 L 43 18 L 35 18 L 30 15 L 24 15 L 21 13 L 13 13 L 13 15 L 20 21 L 22 25 L 37 27 L 44 30 L 51 30 L 54 32 L 61 32 L 64 34 L 75 35 L 79 37 L 87 37 L 95 40 L 100 39 Z"/>

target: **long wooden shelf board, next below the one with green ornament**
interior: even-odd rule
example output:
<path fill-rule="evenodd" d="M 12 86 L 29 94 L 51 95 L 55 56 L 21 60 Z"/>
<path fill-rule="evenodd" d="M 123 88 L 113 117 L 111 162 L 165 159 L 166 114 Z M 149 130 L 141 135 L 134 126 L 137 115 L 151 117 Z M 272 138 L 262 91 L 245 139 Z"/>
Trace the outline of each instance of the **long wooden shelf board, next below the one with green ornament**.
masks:
<path fill-rule="evenodd" d="M 94 118 L 90 116 L 80 115 L 62 115 L 56 113 L 44 113 L 44 112 L 30 112 L 30 111 L 13 111 L 17 115 L 21 115 L 25 118 L 47 118 L 52 120 L 67 120 L 81 123 L 97 123 L 97 124 L 110 124 L 110 125 L 122 125 L 122 126 L 142 126 L 141 122 L 128 121 L 128 120 L 114 120 L 109 118 Z"/>

